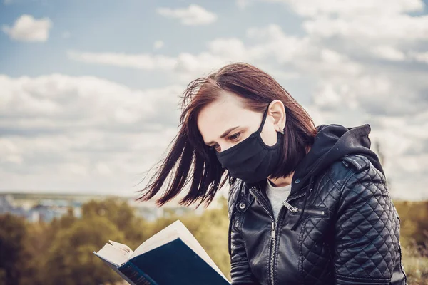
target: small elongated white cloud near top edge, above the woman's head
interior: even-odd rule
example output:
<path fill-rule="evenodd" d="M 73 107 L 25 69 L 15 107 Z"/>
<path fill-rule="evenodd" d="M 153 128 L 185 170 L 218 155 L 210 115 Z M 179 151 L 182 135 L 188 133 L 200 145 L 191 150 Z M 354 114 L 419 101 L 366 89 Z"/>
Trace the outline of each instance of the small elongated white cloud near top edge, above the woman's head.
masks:
<path fill-rule="evenodd" d="M 216 14 L 195 4 L 191 4 L 188 8 L 158 8 L 156 11 L 166 18 L 178 19 L 186 26 L 206 25 L 217 20 Z"/>

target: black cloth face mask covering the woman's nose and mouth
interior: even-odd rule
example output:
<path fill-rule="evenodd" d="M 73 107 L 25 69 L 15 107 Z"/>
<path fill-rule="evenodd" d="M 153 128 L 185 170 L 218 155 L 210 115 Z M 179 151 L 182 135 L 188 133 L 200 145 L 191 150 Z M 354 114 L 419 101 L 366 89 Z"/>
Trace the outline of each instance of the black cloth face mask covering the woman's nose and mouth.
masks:
<path fill-rule="evenodd" d="M 280 161 L 280 132 L 277 132 L 277 142 L 272 146 L 266 145 L 260 137 L 266 117 L 267 109 L 258 130 L 228 150 L 215 152 L 218 161 L 230 175 L 247 183 L 265 180 Z"/>

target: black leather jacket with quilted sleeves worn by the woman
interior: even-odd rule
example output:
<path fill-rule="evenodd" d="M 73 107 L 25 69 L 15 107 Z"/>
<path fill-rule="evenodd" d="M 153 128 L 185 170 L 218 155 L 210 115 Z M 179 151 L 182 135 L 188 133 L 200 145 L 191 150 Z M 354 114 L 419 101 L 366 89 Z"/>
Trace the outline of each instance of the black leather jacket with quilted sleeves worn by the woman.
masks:
<path fill-rule="evenodd" d="M 314 152 L 319 145 L 315 140 Z M 324 166 L 302 181 L 296 170 L 276 221 L 262 184 L 235 179 L 228 199 L 232 284 L 407 284 L 399 216 L 382 167 L 368 157 L 338 155 L 327 166 L 315 157 Z"/>

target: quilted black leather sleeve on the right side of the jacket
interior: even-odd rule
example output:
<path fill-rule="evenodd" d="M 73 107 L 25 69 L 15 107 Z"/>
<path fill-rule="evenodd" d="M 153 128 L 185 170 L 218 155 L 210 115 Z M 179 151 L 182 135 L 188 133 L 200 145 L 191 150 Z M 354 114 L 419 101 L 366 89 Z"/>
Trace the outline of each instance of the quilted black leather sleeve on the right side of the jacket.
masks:
<path fill-rule="evenodd" d="M 350 172 L 339 180 L 334 248 L 337 281 L 390 284 L 393 276 L 400 276 L 405 282 L 399 217 L 384 175 L 362 155 L 347 155 L 342 164 Z"/>

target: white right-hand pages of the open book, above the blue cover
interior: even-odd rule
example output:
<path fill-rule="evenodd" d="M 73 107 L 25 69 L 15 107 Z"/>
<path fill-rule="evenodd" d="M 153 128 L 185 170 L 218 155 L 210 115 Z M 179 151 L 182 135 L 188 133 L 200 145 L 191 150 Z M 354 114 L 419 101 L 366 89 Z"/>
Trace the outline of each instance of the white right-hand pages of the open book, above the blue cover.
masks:
<path fill-rule="evenodd" d="M 129 259 L 136 257 L 145 252 L 149 252 L 152 249 L 156 249 L 157 247 L 161 247 L 163 244 L 167 244 L 168 242 L 172 242 L 174 239 L 180 238 L 185 244 L 190 247 L 196 254 L 199 255 L 206 263 L 208 263 L 215 271 L 218 272 L 224 279 L 226 277 L 220 271 L 217 265 L 215 265 L 213 259 L 205 252 L 205 249 L 200 245 L 197 239 L 193 237 L 193 234 L 188 230 L 185 225 L 177 220 L 170 224 L 168 227 L 165 227 L 157 234 L 154 234 L 152 237 L 143 242 L 134 252 L 131 254 Z M 227 279 L 226 279 L 227 280 Z"/>

